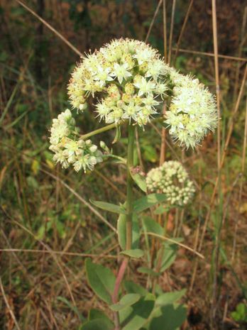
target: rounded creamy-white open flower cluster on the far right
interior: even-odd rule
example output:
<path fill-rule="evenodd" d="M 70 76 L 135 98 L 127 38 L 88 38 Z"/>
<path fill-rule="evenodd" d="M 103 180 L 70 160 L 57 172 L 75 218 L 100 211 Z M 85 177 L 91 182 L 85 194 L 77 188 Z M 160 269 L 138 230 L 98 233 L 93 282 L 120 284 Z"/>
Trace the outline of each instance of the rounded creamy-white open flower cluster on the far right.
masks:
<path fill-rule="evenodd" d="M 209 131 L 216 128 L 215 99 L 198 79 L 180 75 L 172 68 L 170 79 L 175 87 L 165 123 L 170 126 L 172 138 L 187 148 L 194 148 Z"/>

